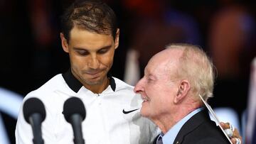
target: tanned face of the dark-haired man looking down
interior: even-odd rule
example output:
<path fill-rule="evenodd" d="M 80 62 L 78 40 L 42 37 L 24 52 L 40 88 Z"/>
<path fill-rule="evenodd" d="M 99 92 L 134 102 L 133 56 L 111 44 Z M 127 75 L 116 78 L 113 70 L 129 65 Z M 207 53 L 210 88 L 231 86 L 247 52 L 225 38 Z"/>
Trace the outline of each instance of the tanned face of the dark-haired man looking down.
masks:
<path fill-rule="evenodd" d="M 100 93 L 107 87 L 107 72 L 112 67 L 114 50 L 119 44 L 112 35 L 92 33 L 77 27 L 70 31 L 70 40 L 60 33 L 63 50 L 69 53 L 71 71 L 92 92 Z"/>

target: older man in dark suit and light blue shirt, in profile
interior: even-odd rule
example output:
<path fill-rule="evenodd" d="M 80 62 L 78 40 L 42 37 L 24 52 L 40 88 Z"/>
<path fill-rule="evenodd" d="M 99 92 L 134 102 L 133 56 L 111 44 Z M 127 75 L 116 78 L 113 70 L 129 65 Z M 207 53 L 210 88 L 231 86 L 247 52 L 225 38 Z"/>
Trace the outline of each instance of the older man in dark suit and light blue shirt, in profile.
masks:
<path fill-rule="evenodd" d="M 156 143 L 229 143 L 200 99 L 213 95 L 213 83 L 213 64 L 195 45 L 172 44 L 149 60 L 134 92 L 142 116 L 161 129 Z"/>

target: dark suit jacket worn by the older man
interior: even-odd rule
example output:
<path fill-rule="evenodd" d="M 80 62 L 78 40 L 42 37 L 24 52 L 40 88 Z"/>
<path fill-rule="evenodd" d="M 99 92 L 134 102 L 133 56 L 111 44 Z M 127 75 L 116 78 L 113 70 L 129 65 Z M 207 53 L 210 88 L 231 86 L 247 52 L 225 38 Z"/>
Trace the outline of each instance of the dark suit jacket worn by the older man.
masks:
<path fill-rule="evenodd" d="M 156 140 L 155 140 L 156 142 Z M 222 144 L 229 143 L 214 121 L 210 120 L 207 109 L 192 116 L 178 132 L 174 144 Z"/>

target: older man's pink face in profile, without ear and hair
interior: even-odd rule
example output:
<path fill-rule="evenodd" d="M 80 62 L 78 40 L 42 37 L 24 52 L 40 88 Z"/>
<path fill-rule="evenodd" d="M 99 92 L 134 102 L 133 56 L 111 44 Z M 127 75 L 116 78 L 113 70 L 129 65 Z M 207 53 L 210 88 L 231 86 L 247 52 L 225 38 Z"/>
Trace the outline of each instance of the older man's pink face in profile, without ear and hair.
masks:
<path fill-rule="evenodd" d="M 171 113 L 179 86 L 173 77 L 178 67 L 178 55 L 181 52 L 164 50 L 146 65 L 144 77 L 134 87 L 134 92 L 141 94 L 144 100 L 142 116 L 154 120 Z"/>

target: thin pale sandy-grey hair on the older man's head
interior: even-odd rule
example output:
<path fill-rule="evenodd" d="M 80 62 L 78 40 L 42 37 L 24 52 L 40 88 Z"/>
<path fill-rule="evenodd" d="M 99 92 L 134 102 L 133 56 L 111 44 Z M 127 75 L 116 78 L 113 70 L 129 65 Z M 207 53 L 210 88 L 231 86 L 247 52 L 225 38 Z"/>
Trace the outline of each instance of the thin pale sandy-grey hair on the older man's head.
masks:
<path fill-rule="evenodd" d="M 186 43 L 174 43 L 166 46 L 166 49 L 183 50 L 179 58 L 177 79 L 188 79 L 191 84 L 191 92 L 199 98 L 199 94 L 207 101 L 213 96 L 213 84 L 215 73 L 213 62 L 200 47 Z"/>

